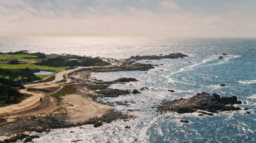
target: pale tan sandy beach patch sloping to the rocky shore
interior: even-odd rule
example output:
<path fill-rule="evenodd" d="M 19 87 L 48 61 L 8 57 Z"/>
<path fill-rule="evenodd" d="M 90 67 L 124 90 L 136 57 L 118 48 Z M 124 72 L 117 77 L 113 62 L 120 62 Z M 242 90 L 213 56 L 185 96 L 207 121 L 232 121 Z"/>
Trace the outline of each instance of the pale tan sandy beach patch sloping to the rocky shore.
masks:
<path fill-rule="evenodd" d="M 99 104 L 91 99 L 84 99 L 81 95 L 71 94 L 64 97 L 64 101 L 71 106 L 67 106 L 72 122 L 85 121 L 95 116 L 101 117 L 111 106 Z"/>

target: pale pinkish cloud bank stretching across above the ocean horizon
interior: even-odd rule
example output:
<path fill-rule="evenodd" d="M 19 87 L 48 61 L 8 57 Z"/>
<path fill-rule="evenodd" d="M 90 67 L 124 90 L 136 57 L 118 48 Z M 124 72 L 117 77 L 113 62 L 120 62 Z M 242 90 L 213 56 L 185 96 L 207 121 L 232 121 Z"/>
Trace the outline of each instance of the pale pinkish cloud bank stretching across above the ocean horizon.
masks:
<path fill-rule="evenodd" d="M 21 0 L 16 7 L 9 5 L 8 0 L 5 4 L 3 1 L 0 5 L 0 36 L 256 37 L 256 20 L 244 17 L 239 11 L 202 16 L 129 5 L 120 10 L 98 3 L 84 5 L 76 13 L 71 9 L 76 10 L 78 6 L 69 0 L 62 0 L 61 6 L 57 2 L 46 1 L 38 5 Z"/>

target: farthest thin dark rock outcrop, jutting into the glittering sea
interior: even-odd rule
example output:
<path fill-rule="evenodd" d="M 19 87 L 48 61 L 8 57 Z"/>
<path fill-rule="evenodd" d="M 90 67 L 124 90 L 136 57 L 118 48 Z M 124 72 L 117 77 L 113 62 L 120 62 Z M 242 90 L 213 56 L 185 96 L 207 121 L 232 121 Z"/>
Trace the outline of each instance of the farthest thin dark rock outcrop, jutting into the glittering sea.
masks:
<path fill-rule="evenodd" d="M 186 54 L 182 54 L 182 53 L 172 53 L 172 54 L 168 54 L 165 56 L 156 56 L 156 55 L 150 55 L 150 56 L 131 56 L 130 59 L 135 59 L 135 60 L 141 60 L 141 59 L 178 59 L 178 58 L 184 58 L 184 57 L 189 57 Z"/>

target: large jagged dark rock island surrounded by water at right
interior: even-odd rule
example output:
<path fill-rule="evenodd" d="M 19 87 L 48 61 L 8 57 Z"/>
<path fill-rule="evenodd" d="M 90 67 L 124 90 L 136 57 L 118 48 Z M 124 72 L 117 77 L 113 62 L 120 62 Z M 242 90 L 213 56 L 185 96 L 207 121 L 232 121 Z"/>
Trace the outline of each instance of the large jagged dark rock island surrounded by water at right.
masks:
<path fill-rule="evenodd" d="M 159 112 L 172 111 L 177 113 L 192 113 L 197 110 L 205 110 L 213 113 L 218 113 L 218 111 L 241 110 L 239 107 L 234 107 L 233 104 L 242 104 L 242 102 L 238 101 L 236 96 L 220 97 L 215 93 L 210 95 L 201 92 L 189 99 L 180 98 L 163 102 L 161 106 L 157 107 L 157 110 Z"/>

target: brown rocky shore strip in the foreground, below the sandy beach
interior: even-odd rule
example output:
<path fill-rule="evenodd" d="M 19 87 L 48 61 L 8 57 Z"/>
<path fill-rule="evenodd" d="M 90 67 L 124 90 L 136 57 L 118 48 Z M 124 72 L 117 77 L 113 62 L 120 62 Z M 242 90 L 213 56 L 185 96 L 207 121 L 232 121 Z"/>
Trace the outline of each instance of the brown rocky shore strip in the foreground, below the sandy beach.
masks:
<path fill-rule="evenodd" d="M 111 123 L 117 119 L 128 121 L 131 118 L 136 117 L 132 115 L 125 115 L 121 112 L 116 112 L 113 109 L 108 110 L 104 115 L 102 115 L 102 117 L 94 117 L 88 119 L 87 121 L 78 123 L 69 122 L 69 116 L 67 116 L 66 112 L 54 113 L 41 117 L 17 118 L 14 122 L 2 124 L 0 126 L 0 136 L 12 136 L 17 134 L 10 139 L 0 141 L 0 143 L 13 143 L 23 138 L 28 138 L 26 139 L 27 141 L 31 141 L 30 138 L 39 138 L 39 136 L 23 134 L 25 131 L 36 131 L 42 133 L 49 132 L 50 129 L 55 128 L 70 128 L 95 123 Z"/>

